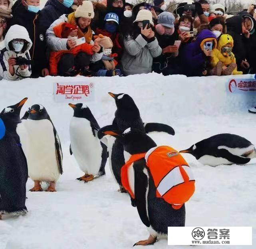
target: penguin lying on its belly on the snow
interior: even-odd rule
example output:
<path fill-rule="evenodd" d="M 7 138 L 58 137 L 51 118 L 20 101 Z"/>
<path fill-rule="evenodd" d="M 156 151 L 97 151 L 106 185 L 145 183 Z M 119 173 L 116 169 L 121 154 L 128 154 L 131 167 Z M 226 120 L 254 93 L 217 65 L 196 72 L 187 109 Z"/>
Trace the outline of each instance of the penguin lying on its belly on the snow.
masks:
<path fill-rule="evenodd" d="M 206 138 L 180 153 L 189 153 L 200 163 L 209 166 L 246 164 L 256 157 L 255 146 L 250 141 L 229 133 Z"/>

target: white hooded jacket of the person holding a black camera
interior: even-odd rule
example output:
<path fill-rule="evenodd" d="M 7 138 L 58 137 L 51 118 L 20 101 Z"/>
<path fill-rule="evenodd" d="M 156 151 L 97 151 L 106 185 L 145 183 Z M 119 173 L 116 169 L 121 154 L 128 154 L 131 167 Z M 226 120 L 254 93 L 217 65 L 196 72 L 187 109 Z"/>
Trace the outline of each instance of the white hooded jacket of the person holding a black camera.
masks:
<path fill-rule="evenodd" d="M 24 53 L 15 53 L 14 51 L 10 50 L 9 42 L 14 39 L 24 39 L 28 42 L 26 47 L 26 51 Z M 11 75 L 9 72 L 9 63 L 8 59 L 13 55 L 13 57 L 24 57 L 26 59 L 30 59 L 29 50 L 32 47 L 32 41 L 29 38 L 28 31 L 26 28 L 20 25 L 13 25 L 10 27 L 4 41 L 0 43 L 0 77 L 8 80 L 18 80 L 22 79 L 23 77 L 29 77 L 31 75 L 31 67 L 30 65 L 22 70 L 18 65 L 14 65 L 14 75 Z M 21 76 L 16 75 L 20 74 Z"/>

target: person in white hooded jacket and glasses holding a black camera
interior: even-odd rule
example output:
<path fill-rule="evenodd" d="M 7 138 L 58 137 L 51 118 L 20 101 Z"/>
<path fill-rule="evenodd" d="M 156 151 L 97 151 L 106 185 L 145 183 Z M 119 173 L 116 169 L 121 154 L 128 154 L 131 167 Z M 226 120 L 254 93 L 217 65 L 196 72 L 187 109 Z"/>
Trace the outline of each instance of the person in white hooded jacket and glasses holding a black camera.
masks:
<path fill-rule="evenodd" d="M 29 49 L 32 41 L 26 28 L 13 25 L 6 33 L 4 41 L 0 43 L 0 77 L 15 81 L 31 75 L 30 65 L 16 65 L 16 58 L 23 57 L 30 60 Z"/>

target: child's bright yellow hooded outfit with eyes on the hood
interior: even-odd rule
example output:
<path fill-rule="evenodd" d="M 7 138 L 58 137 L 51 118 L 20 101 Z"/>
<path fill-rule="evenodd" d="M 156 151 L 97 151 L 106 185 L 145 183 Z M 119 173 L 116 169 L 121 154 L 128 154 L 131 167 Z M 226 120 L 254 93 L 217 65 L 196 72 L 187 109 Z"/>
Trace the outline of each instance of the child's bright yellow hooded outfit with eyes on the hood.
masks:
<path fill-rule="evenodd" d="M 230 36 L 230 35 L 220 36 L 217 48 L 214 48 L 212 50 L 212 60 L 211 60 L 212 67 L 216 67 L 218 61 L 221 61 L 226 67 L 228 65 L 230 65 L 231 63 L 236 63 L 236 58 L 235 58 L 234 53 L 231 53 L 230 56 L 224 56 L 221 53 L 222 47 L 224 47 L 228 43 L 232 44 L 232 48 L 233 48 L 234 40 L 233 40 L 232 36 Z M 241 71 L 237 71 L 237 67 L 236 67 L 236 69 L 234 69 L 232 74 L 243 74 L 243 73 Z"/>

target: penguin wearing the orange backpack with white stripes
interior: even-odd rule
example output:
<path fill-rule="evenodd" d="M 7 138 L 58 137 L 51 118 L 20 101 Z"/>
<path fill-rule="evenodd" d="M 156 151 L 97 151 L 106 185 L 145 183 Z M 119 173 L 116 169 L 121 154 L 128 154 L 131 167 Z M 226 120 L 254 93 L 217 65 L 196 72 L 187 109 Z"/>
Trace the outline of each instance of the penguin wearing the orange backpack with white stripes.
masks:
<path fill-rule="evenodd" d="M 182 156 L 171 147 L 156 147 L 157 144 L 145 132 L 138 129 L 101 129 L 99 132 L 117 138 L 124 150 L 132 155 L 121 170 L 122 183 L 131 196 L 132 206 L 137 207 L 141 221 L 148 227 L 150 233 L 147 240 L 139 241 L 135 245 L 149 245 L 155 243 L 157 236 L 167 237 L 169 226 L 185 226 L 185 202 L 175 202 L 176 204 L 173 205 L 169 202 L 170 198 L 177 198 L 175 201 L 185 200 L 194 193 L 194 178 L 191 173 L 187 175 L 187 170 L 191 171 Z M 153 158 L 155 161 L 152 164 L 150 156 L 154 150 L 158 148 L 162 150 L 161 147 L 168 148 L 168 153 L 161 153 L 159 156 L 158 150 L 155 154 L 157 158 Z M 166 167 L 166 162 L 173 164 L 172 170 Z M 154 172 L 151 166 L 154 167 Z M 156 175 L 160 179 L 157 184 Z M 190 194 L 186 196 L 187 189 Z"/>

